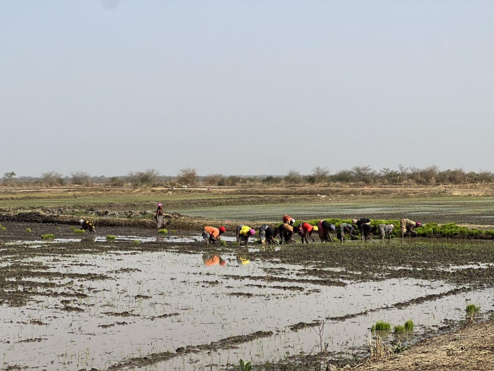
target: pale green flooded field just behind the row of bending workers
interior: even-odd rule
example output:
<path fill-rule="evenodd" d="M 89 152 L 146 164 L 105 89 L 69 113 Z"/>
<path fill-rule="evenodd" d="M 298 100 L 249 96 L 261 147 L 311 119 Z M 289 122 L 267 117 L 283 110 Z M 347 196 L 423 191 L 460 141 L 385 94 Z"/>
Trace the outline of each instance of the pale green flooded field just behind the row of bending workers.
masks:
<path fill-rule="evenodd" d="M 356 202 L 314 202 L 294 204 L 215 206 L 178 208 L 172 211 L 216 220 L 279 221 L 284 214 L 295 219 L 409 218 L 438 223 L 494 223 L 493 197 L 437 197 L 368 199 Z"/>

